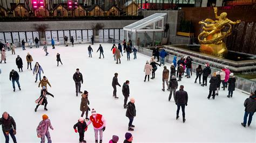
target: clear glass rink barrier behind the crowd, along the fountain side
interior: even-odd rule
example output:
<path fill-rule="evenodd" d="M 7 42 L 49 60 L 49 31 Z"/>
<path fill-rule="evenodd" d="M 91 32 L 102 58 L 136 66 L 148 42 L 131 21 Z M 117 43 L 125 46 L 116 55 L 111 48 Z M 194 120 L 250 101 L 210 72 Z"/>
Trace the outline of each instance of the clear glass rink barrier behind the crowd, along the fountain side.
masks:
<path fill-rule="evenodd" d="M 154 48 L 154 47 L 137 47 L 137 48 L 138 48 L 139 53 L 151 57 L 152 56 L 152 50 L 150 48 Z M 173 57 L 174 57 L 174 55 L 167 55 L 165 57 L 165 62 L 172 63 Z M 180 58 L 177 57 L 177 61 L 179 59 Z M 192 61 L 192 72 L 193 72 L 194 75 L 196 75 L 196 68 L 198 67 L 198 65 L 201 65 L 202 67 L 204 67 L 203 64 Z M 216 72 L 216 71 L 220 71 L 220 69 L 212 68 L 212 67 L 211 67 L 211 70 L 212 70 L 212 73 Z M 211 77 L 211 75 L 209 75 L 208 77 Z M 235 78 L 236 78 L 235 88 L 237 88 L 239 90 L 242 90 L 246 94 L 250 94 L 251 92 L 254 92 L 256 90 L 256 82 L 255 81 L 248 80 L 246 78 L 239 77 L 239 76 L 235 76 Z"/>

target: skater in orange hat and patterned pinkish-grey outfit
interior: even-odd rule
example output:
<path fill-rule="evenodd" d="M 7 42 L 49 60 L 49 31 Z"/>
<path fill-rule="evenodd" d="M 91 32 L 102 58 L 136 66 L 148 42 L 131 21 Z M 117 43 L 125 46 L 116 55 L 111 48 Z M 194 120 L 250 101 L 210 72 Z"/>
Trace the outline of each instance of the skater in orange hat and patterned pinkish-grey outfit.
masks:
<path fill-rule="evenodd" d="M 47 115 L 43 115 L 42 116 L 43 120 L 40 121 L 39 125 L 36 128 L 37 131 L 37 137 L 41 138 L 41 142 L 45 142 L 45 137 L 48 140 L 48 143 L 51 143 L 51 135 L 49 132 L 49 127 L 51 128 L 51 130 L 53 130 L 53 127 L 51 125 L 51 120 L 49 119 L 49 117 Z"/>

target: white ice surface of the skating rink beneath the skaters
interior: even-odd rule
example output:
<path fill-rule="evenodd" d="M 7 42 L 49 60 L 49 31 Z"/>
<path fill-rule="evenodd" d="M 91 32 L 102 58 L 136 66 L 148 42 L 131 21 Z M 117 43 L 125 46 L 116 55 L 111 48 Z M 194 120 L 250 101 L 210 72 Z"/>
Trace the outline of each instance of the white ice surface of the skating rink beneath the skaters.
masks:
<path fill-rule="evenodd" d="M 176 120 L 177 106 L 173 97 L 168 101 L 169 91 L 161 91 L 163 66 L 158 67 L 156 78 L 150 82 L 144 82 L 144 65 L 149 56 L 137 53 L 137 60 L 127 61 L 126 53 L 121 57 L 121 65 L 113 60 L 110 51 L 112 44 L 102 44 L 105 59 L 98 59 L 96 53 L 99 44 L 92 45 L 92 58 L 89 58 L 87 47 L 89 44 L 75 45 L 74 47 L 56 46 L 52 49 L 48 46 L 49 55 L 40 48 L 16 48 L 16 55 L 6 51 L 6 64 L 0 64 L 2 74 L 1 85 L 1 116 L 7 111 L 14 117 L 17 124 L 17 142 L 40 142 L 37 138 L 36 128 L 42 120 L 42 115 L 47 114 L 54 130 L 50 130 L 52 142 L 78 142 L 79 135 L 73 130 L 81 115 L 81 96 L 76 96 L 75 83 L 72 79 L 76 68 L 84 77 L 81 91 L 89 92 L 90 108 L 96 109 L 106 119 L 106 130 L 103 133 L 103 142 L 109 142 L 112 135 L 119 136 L 119 142 L 123 142 L 129 119 L 125 117 L 126 109 L 123 109 L 124 96 L 122 88 L 117 87 L 119 99 L 112 97 L 112 77 L 118 73 L 118 81 L 121 85 L 126 80 L 130 81 L 130 97 L 136 99 L 137 116 L 133 125 L 136 127 L 133 134 L 133 142 L 255 142 L 256 124 L 255 116 L 250 127 L 241 126 L 244 117 L 244 101 L 248 95 L 235 90 L 233 98 L 227 98 L 228 91 L 220 90 L 219 96 L 213 100 L 207 99 L 207 87 L 195 84 L 195 74 L 191 78 L 183 78 L 180 84 L 188 92 L 188 105 L 186 106 L 186 122 L 180 118 Z M 33 58 L 32 68 L 36 62 L 42 66 L 45 75 L 52 88 L 48 91 L 55 96 L 48 96 L 48 111 L 39 106 L 37 112 L 35 100 L 39 97 L 41 88 L 32 71 L 26 69 L 26 54 Z M 60 54 L 63 65 L 57 67 L 56 54 Z M 11 69 L 18 71 L 15 59 L 20 55 L 23 60 L 23 72 L 19 73 L 21 91 L 12 89 L 9 81 Z M 170 70 L 170 65 L 166 64 Z M 208 79 L 209 81 L 210 79 Z M 129 99 L 130 101 L 130 99 Z M 91 112 L 89 112 L 89 116 Z M 84 116 L 85 118 L 85 116 Z M 85 132 L 85 140 L 89 143 L 95 141 L 92 124 Z M 1 131 L 0 142 L 4 142 Z M 10 142 L 12 140 L 10 139 Z"/>

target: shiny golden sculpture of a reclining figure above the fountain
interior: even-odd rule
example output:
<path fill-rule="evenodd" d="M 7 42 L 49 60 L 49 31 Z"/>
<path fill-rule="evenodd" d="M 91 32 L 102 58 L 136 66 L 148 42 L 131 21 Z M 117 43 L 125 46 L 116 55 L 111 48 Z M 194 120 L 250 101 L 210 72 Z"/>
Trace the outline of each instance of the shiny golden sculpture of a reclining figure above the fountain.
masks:
<path fill-rule="evenodd" d="M 204 22 L 199 22 L 199 24 L 204 24 L 203 32 L 198 35 L 198 40 L 201 44 L 200 51 L 207 54 L 212 54 L 219 57 L 224 57 L 227 54 L 227 47 L 223 39 L 228 37 L 232 32 L 231 24 L 238 24 L 241 20 L 237 22 L 232 22 L 227 19 L 227 13 L 223 12 L 220 16 L 217 15 L 217 8 L 214 9 L 215 18 L 218 20 L 205 19 Z M 224 27 L 228 27 L 226 32 L 221 31 Z"/>

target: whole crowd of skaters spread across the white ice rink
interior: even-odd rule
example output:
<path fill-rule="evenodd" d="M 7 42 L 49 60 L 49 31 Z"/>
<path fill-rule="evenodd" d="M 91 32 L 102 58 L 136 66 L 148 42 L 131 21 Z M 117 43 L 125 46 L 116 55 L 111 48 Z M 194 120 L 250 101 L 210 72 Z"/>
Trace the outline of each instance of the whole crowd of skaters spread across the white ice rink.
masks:
<path fill-rule="evenodd" d="M 67 37 L 65 37 L 67 38 Z M 92 45 L 93 45 L 93 37 L 91 38 L 92 40 Z M 36 41 L 36 39 L 35 39 Z M 39 41 L 39 40 L 38 40 Z M 36 47 L 38 48 L 38 41 L 36 44 Z M 24 40 L 23 40 L 24 42 Z M 71 37 L 71 42 L 72 42 L 72 37 Z M 53 49 L 55 49 L 55 42 L 52 39 L 51 41 L 52 47 Z M 66 46 L 68 46 L 68 42 L 66 42 L 65 39 L 65 44 Z M 4 45 L 0 43 L 0 48 L 1 48 L 1 60 L 4 59 L 4 62 L 6 61 L 6 54 L 5 54 L 5 49 L 4 49 Z M 12 45 L 12 44 L 10 44 Z M 8 45 L 10 47 L 10 49 L 12 50 L 12 54 L 15 54 L 15 47 L 12 48 L 10 45 Z M 7 46 L 7 45 L 6 45 Z M 72 42 L 72 46 L 73 46 L 73 42 Z M 8 50 L 9 50 L 8 47 Z M 23 46 L 23 50 L 25 50 L 25 46 Z M 132 47 L 132 41 L 129 40 L 129 42 L 127 42 L 124 40 L 123 41 L 123 47 L 124 49 L 122 49 L 121 44 L 118 44 L 118 47 L 113 44 L 111 51 L 113 53 L 113 58 L 114 61 L 117 61 L 116 63 L 120 64 L 120 58 L 121 55 L 123 56 L 123 53 L 126 53 L 127 56 L 127 61 L 130 60 L 130 53 L 134 53 L 134 58 L 133 59 L 137 59 L 137 49 L 135 47 Z M 132 49 L 133 48 L 133 49 Z M 49 53 L 47 52 L 47 45 L 46 43 L 44 43 L 44 47 L 43 47 L 46 55 L 48 55 Z M 89 57 L 92 57 L 91 52 L 93 52 L 93 49 L 91 48 L 91 46 L 88 47 L 88 51 L 89 51 Z M 100 51 L 100 55 L 99 55 L 99 59 L 101 58 L 101 55 L 103 55 L 104 58 L 104 51 L 103 51 L 103 47 L 102 45 L 99 45 L 99 48 L 97 50 L 97 52 Z M 124 51 L 124 52 L 123 52 Z M 144 67 L 144 71 L 145 71 L 145 79 L 144 82 L 146 81 L 146 77 L 147 77 L 147 81 L 150 81 L 149 76 L 152 73 L 152 77 L 151 79 L 154 80 L 155 77 L 155 73 L 157 70 L 157 66 L 161 66 L 161 65 L 165 65 L 165 57 L 169 55 L 164 48 L 162 48 L 159 52 L 159 48 L 156 46 L 155 49 L 153 49 L 153 53 L 152 53 L 152 58 L 149 61 L 146 61 L 146 65 Z M 59 53 L 56 55 L 57 58 L 57 66 L 58 66 L 58 62 L 62 63 L 60 60 L 60 55 Z M 156 61 L 157 58 L 157 61 Z M 33 61 L 32 56 L 28 53 L 28 55 L 26 56 L 26 61 L 28 62 L 28 67 L 27 69 L 29 69 L 29 65 L 30 65 L 30 69 L 31 68 L 31 62 Z M 119 62 L 118 62 L 119 61 Z M 176 114 L 176 119 L 179 119 L 179 110 L 181 108 L 182 112 L 183 112 L 183 122 L 185 123 L 185 106 L 187 106 L 187 102 L 188 102 L 188 94 L 187 92 L 184 90 L 184 85 L 180 85 L 179 90 L 176 91 L 178 89 L 178 81 L 180 82 L 181 79 L 183 78 L 184 74 L 186 74 L 184 77 L 187 78 L 191 78 L 192 76 L 192 59 L 190 58 L 190 56 L 184 56 L 181 57 L 178 61 L 177 61 L 177 57 L 174 56 L 173 58 L 173 62 L 171 63 L 171 67 L 170 67 L 170 71 L 169 69 L 167 69 L 166 66 L 164 66 L 164 70 L 163 70 L 163 88 L 162 90 L 165 91 L 165 84 L 167 85 L 166 89 L 168 91 L 170 91 L 169 94 L 169 101 L 172 98 L 172 94 L 174 96 L 174 101 L 177 105 L 177 114 Z M 2 61 L 1 61 L 2 62 Z M 160 62 L 160 63 L 158 63 Z M 6 63 L 6 62 L 5 62 Z M 19 72 L 23 71 L 23 62 L 22 59 L 19 57 L 19 55 L 16 58 L 16 65 L 19 69 Z M 37 78 L 39 75 L 39 85 L 38 87 L 42 87 L 41 89 L 41 96 L 36 100 L 37 106 L 35 109 L 35 112 L 37 111 L 37 108 L 39 105 L 44 105 L 44 110 L 48 110 L 46 108 L 46 105 L 48 104 L 47 102 L 47 98 L 46 95 L 50 95 L 52 97 L 54 97 L 52 94 L 50 94 L 50 92 L 48 92 L 47 89 L 47 84 L 49 84 L 49 86 L 51 87 L 51 84 L 49 83 L 48 79 L 43 76 L 43 79 L 41 80 L 41 72 L 44 73 L 43 68 L 39 65 L 38 62 L 36 62 L 36 65 L 33 68 L 33 74 L 36 74 L 36 81 L 37 82 Z M 212 96 L 213 99 L 215 99 L 215 96 L 219 95 L 219 90 L 220 90 L 220 84 L 222 83 L 223 90 L 225 90 L 226 88 L 228 89 L 228 95 L 227 97 L 230 98 L 233 96 L 233 91 L 235 90 L 235 77 L 234 74 L 231 73 L 231 71 L 228 69 L 228 66 L 226 66 L 224 69 L 221 69 L 221 71 L 217 71 L 212 73 L 211 72 L 211 68 L 209 63 L 205 64 L 204 69 L 202 68 L 201 65 L 199 65 L 196 69 L 196 79 L 194 81 L 194 83 L 197 83 L 197 80 L 199 78 L 199 84 L 201 84 L 201 86 L 207 86 L 207 77 L 209 75 L 211 75 L 210 78 L 210 88 L 209 88 L 209 94 L 207 96 L 208 99 L 210 99 L 210 97 Z M 169 75 L 170 75 L 170 80 L 169 80 Z M 203 75 L 203 83 L 201 83 L 201 76 Z M 117 97 L 117 89 L 116 89 L 116 85 L 118 85 L 119 87 L 121 87 L 121 85 L 118 83 L 118 73 L 114 74 L 113 80 L 112 80 L 112 87 L 113 87 L 113 97 L 114 99 L 118 99 Z M 177 80 L 178 78 L 178 80 Z M 18 88 L 19 90 L 21 90 L 21 86 L 19 84 L 19 75 L 17 73 L 17 71 L 15 71 L 14 69 L 11 70 L 10 72 L 10 80 L 12 79 L 12 84 L 13 84 L 13 88 L 15 91 L 15 82 L 18 84 Z M 75 85 L 76 85 L 76 96 L 78 96 L 78 93 L 82 94 L 82 98 L 81 98 L 81 103 L 80 103 L 80 111 L 82 111 L 82 115 L 81 117 L 78 119 L 78 122 L 73 126 L 75 132 L 79 133 L 79 141 L 80 142 L 86 142 L 84 140 L 84 133 L 85 131 L 87 131 L 87 126 L 89 126 L 91 123 L 93 125 L 94 131 L 95 131 L 95 141 L 96 143 L 102 142 L 103 139 L 103 132 L 106 129 L 106 120 L 104 119 L 103 115 L 100 115 L 98 113 L 96 113 L 95 109 L 92 109 L 91 111 L 91 116 L 88 118 L 88 113 L 91 110 L 89 108 L 88 105 L 90 105 L 89 99 L 88 99 L 88 95 L 89 92 L 88 91 L 80 91 L 80 87 L 81 87 L 81 82 L 83 84 L 83 75 L 82 73 L 80 73 L 79 69 L 77 68 L 76 73 L 73 75 L 73 80 L 75 81 Z M 133 123 L 133 119 L 134 117 L 136 117 L 136 108 L 135 108 L 135 100 L 134 98 L 130 99 L 130 102 L 127 103 L 128 98 L 130 97 L 130 89 L 129 89 L 129 80 L 126 80 L 122 86 L 122 93 L 124 96 L 124 109 L 126 109 L 126 117 L 129 118 L 129 124 L 128 124 L 128 130 L 129 131 L 133 131 L 134 130 L 134 125 L 132 125 Z M 227 87 L 228 85 L 228 87 Z M 250 126 L 251 121 L 252 121 L 252 116 L 253 113 L 256 110 L 256 96 L 255 96 L 255 92 L 251 93 L 250 97 L 246 99 L 245 103 L 245 115 L 244 115 L 244 122 L 241 123 L 242 126 L 246 126 L 247 123 L 247 117 L 249 116 L 248 119 L 248 126 Z M 84 113 L 86 114 L 86 118 L 84 119 Z M 38 138 L 41 138 L 41 142 L 45 141 L 45 137 L 48 139 L 48 142 L 51 142 L 51 138 L 50 138 L 50 133 L 48 130 L 48 127 L 50 127 L 53 130 L 53 127 L 51 126 L 50 123 L 50 119 L 48 118 L 47 115 L 43 115 L 43 120 L 39 123 L 38 127 L 37 127 L 37 135 Z M 86 121 L 88 121 L 88 123 L 86 123 Z M 6 142 L 9 142 L 9 134 L 11 135 L 11 138 L 13 139 L 14 142 L 16 142 L 16 138 L 15 138 L 15 134 L 16 134 L 16 124 L 14 119 L 9 116 L 9 114 L 7 112 L 3 113 L 3 117 L 0 119 L 0 124 L 2 124 L 2 128 L 3 128 L 3 133 L 6 139 Z M 98 138 L 98 134 L 99 134 L 99 138 Z M 113 135 L 112 139 L 109 142 L 117 142 L 119 140 L 119 137 L 117 135 Z M 131 133 L 126 133 L 125 134 L 125 141 L 124 142 L 132 142 L 133 137 Z"/>

